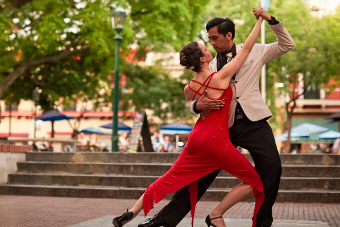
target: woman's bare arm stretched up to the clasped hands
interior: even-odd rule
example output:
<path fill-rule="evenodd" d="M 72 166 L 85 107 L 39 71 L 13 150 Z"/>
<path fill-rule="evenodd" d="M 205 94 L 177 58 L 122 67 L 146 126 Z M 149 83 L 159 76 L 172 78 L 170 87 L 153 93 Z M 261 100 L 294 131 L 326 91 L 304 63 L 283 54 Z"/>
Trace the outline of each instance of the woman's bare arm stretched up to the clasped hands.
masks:
<path fill-rule="evenodd" d="M 237 53 L 235 58 L 228 64 L 225 64 L 220 71 L 218 71 L 218 76 L 221 76 L 222 79 L 224 78 L 231 78 L 243 65 L 245 59 L 248 57 L 252 47 L 256 43 L 261 23 L 263 21 L 262 17 L 258 17 L 257 22 L 252 29 L 250 35 L 244 42 L 241 50 Z"/>

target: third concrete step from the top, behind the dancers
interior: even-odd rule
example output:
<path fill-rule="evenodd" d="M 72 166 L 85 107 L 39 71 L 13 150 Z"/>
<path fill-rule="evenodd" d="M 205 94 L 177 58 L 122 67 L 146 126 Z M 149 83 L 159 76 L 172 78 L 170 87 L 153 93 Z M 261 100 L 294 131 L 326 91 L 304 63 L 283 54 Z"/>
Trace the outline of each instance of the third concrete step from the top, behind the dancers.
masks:
<path fill-rule="evenodd" d="M 147 187 L 159 176 L 14 173 L 8 175 L 9 184 L 119 186 Z M 232 176 L 217 176 L 210 188 L 233 188 L 241 180 Z M 280 189 L 285 190 L 337 190 L 340 177 L 281 177 Z"/>

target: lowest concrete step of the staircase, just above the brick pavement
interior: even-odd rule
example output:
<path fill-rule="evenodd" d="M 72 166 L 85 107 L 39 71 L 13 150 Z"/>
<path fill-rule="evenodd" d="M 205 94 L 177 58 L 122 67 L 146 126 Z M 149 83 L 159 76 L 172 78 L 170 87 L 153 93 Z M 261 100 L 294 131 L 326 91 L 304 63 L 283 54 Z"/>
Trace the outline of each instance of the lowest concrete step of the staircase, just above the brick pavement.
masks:
<path fill-rule="evenodd" d="M 126 198 L 137 199 L 145 188 L 122 187 L 87 187 L 87 186 L 56 186 L 56 185 L 25 185 L 4 184 L 0 185 L 0 194 L 11 195 L 38 195 L 38 196 L 65 196 L 65 197 L 94 197 L 94 198 Z M 220 201 L 228 189 L 209 189 L 202 196 L 202 200 Z M 170 199 L 173 193 L 164 196 Z M 253 195 L 245 201 L 254 201 Z M 339 203 L 339 190 L 279 190 L 276 202 L 319 202 Z"/>

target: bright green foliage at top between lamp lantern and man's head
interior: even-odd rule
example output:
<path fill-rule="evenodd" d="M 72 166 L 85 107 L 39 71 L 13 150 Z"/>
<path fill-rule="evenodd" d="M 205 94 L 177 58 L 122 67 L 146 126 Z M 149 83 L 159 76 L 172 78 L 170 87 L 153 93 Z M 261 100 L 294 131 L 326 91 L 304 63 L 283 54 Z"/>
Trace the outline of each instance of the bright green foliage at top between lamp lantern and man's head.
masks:
<path fill-rule="evenodd" d="M 201 29 L 199 18 L 205 13 L 208 0 L 126 1 L 130 6 L 130 25 L 139 47 L 179 51 L 194 40 Z M 198 20 L 197 20 L 198 19 Z"/>

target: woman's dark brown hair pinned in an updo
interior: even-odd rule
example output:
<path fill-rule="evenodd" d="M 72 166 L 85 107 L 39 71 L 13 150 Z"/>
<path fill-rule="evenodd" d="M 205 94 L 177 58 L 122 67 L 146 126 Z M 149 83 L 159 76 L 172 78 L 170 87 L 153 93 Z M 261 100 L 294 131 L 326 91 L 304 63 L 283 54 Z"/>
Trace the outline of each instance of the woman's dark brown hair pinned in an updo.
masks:
<path fill-rule="evenodd" d="M 202 50 L 197 42 L 186 44 L 179 52 L 179 64 L 185 66 L 186 69 L 191 69 L 194 72 L 200 70 L 199 58 L 203 57 Z"/>

